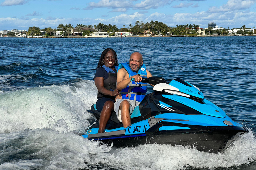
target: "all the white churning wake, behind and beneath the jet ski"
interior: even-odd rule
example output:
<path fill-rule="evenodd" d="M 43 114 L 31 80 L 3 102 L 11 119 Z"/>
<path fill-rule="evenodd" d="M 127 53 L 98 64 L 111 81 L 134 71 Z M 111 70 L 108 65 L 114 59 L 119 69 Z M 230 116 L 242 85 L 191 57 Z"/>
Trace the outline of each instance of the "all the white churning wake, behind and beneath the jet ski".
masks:
<path fill-rule="evenodd" d="M 96 93 L 89 80 L 1 92 L 0 169 L 214 169 L 256 159 L 252 130 L 217 154 L 158 144 L 112 148 L 84 139 L 76 134 L 89 126 L 86 110 Z"/>

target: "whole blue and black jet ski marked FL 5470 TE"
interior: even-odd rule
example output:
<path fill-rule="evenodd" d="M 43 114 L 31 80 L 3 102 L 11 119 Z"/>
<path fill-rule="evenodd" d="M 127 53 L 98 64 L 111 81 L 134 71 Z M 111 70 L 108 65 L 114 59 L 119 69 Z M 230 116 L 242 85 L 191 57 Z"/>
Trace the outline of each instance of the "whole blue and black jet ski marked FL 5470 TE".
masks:
<path fill-rule="evenodd" d="M 113 147 L 142 144 L 170 144 L 217 153 L 225 150 L 248 129 L 232 121 L 226 113 L 204 98 L 200 89 L 181 78 L 168 83 L 161 77 L 143 78 L 154 85 L 131 114 L 132 125 L 123 128 L 112 113 L 104 133 L 98 133 L 100 112 L 95 104 L 87 112 L 95 118 L 84 138 Z"/>

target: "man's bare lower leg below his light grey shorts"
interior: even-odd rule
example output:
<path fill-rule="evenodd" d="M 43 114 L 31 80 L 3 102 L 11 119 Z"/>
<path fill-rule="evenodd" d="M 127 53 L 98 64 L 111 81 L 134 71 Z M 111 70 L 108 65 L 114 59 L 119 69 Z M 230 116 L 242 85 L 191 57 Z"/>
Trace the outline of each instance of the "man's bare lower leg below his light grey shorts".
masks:
<path fill-rule="evenodd" d="M 119 106 L 121 110 L 121 119 L 124 128 L 131 125 L 131 116 L 130 116 L 130 103 L 127 100 L 121 102 Z"/>

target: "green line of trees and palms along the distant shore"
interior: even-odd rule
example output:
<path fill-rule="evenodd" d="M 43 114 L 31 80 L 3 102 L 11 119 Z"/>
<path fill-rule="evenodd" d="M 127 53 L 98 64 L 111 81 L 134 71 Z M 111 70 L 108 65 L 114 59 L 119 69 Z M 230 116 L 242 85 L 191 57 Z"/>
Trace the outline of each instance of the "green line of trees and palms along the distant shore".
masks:
<path fill-rule="evenodd" d="M 83 30 L 82 28 L 90 28 L 89 30 Z M 76 27 L 74 28 L 72 24 L 59 24 L 57 29 L 54 28 L 52 29 L 51 27 L 43 28 L 40 30 L 39 27 L 29 27 L 27 35 L 40 35 L 40 31 L 44 31 L 45 35 L 44 36 L 53 36 L 56 31 L 60 31 L 63 36 L 70 36 L 74 32 L 78 32 L 79 36 L 84 36 L 87 34 L 87 36 L 92 33 L 92 30 L 95 31 L 101 31 L 101 32 L 112 32 L 110 35 L 114 35 L 114 32 L 131 32 L 134 35 L 143 35 L 145 30 L 149 30 L 152 32 L 153 35 L 166 35 L 167 33 L 171 33 L 172 35 L 197 35 L 197 29 L 200 28 L 200 25 L 196 24 L 184 24 L 184 25 L 176 25 L 176 27 L 169 27 L 163 22 L 158 22 L 158 21 L 153 21 L 151 20 L 150 22 L 144 23 L 143 21 L 136 21 L 134 26 L 132 24 L 129 24 L 128 27 L 126 28 L 125 25 L 123 25 L 123 28 L 118 29 L 116 25 L 111 25 L 111 24 L 103 24 L 99 23 L 97 25 L 83 25 L 83 24 L 77 24 Z M 255 27 L 254 27 L 255 28 Z M 235 29 L 235 28 L 233 28 Z M 233 30 L 231 29 L 231 30 Z M 239 30 L 237 34 L 247 34 L 246 26 L 243 25 L 241 28 L 238 29 L 243 29 Z M 73 33 L 72 33 L 73 30 Z M 229 30 L 229 28 L 228 28 Z M 147 31 L 147 32 L 149 32 Z M 218 34 L 218 35 L 225 35 L 228 34 L 228 31 L 226 29 L 222 30 L 213 30 L 212 27 L 208 27 L 205 29 L 205 34 L 207 35 L 212 35 L 212 34 Z M 253 34 L 253 33 L 249 33 Z M 73 34 L 74 35 L 74 34 Z"/>

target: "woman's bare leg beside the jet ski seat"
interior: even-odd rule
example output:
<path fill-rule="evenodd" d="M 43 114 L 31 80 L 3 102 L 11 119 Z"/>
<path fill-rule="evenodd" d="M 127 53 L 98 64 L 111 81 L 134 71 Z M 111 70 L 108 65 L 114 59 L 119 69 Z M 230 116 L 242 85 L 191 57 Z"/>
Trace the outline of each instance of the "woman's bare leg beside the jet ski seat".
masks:
<path fill-rule="evenodd" d="M 114 102 L 111 100 L 106 101 L 100 113 L 100 124 L 98 133 L 103 133 L 105 131 L 112 110 L 114 110 Z"/>

